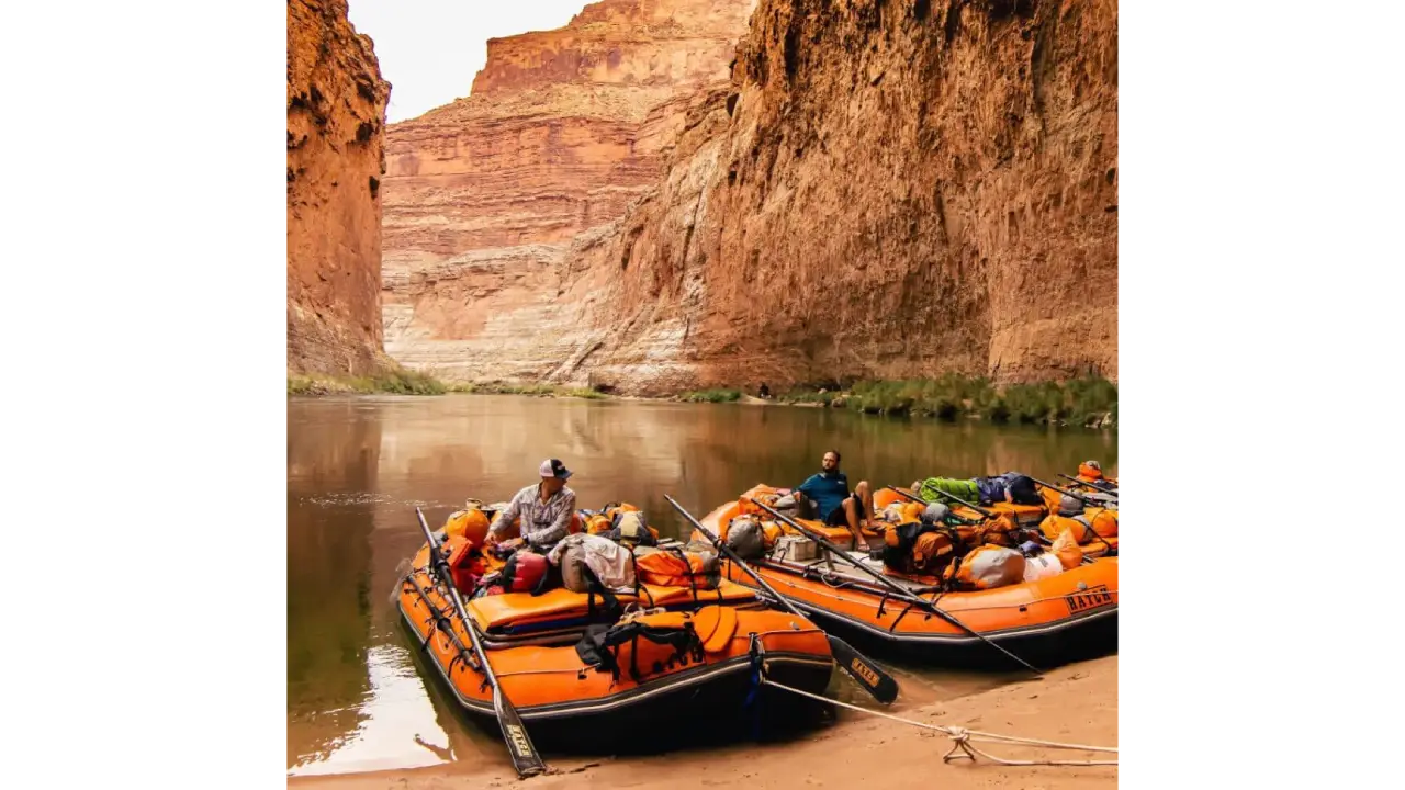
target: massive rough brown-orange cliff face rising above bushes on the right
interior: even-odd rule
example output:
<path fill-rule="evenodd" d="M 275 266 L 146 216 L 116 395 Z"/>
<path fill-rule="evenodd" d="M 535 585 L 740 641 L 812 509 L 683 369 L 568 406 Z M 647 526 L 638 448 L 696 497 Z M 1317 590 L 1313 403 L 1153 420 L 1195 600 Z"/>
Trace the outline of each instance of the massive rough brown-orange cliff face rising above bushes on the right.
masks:
<path fill-rule="evenodd" d="M 562 378 L 1117 378 L 1117 4 L 764 0 Z M 589 319 L 590 316 L 582 316 Z"/>

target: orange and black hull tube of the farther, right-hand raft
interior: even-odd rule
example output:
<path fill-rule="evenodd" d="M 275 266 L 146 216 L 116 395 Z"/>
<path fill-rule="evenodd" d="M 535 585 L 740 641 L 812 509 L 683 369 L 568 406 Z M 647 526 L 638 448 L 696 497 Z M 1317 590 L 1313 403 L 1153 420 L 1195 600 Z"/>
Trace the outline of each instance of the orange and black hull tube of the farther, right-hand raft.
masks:
<path fill-rule="evenodd" d="M 774 489 L 756 486 L 701 522 L 714 534 L 724 536 L 735 516 L 756 510 L 749 502 L 752 495 L 770 491 Z M 840 547 L 847 548 L 851 543 L 843 527 L 801 523 Z M 840 530 L 844 536 L 837 534 Z M 695 540 L 705 538 L 697 536 Z M 854 647 L 867 645 L 877 656 L 905 656 L 944 666 L 1003 669 L 1010 663 L 961 627 L 894 599 L 891 589 L 843 559 L 826 561 L 825 551 L 818 547 L 813 558 L 795 559 L 781 554 L 783 545 L 794 551 L 785 541 L 774 541 L 767 557 L 750 562 L 752 568 L 815 623 L 853 641 Z M 1121 564 L 1116 558 L 1093 559 L 1033 582 L 979 592 L 940 592 L 936 578 L 892 575 L 865 551 L 850 552 L 850 557 L 1035 665 L 1097 655 L 1116 648 L 1121 638 Z M 724 561 L 722 566 L 724 578 L 750 582 L 731 562 Z"/>

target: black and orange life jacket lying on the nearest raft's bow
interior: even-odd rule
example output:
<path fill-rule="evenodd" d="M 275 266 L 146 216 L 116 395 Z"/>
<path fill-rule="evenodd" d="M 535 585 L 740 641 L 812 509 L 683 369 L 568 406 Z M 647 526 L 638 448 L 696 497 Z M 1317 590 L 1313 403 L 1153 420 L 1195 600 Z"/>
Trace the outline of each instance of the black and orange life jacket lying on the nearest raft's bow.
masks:
<path fill-rule="evenodd" d="M 711 614 L 708 610 L 722 610 Z M 704 613 L 708 613 L 704 617 Z M 731 641 L 724 620 L 731 620 L 731 631 L 736 630 L 736 610 L 710 606 L 697 617 L 683 611 L 643 611 L 625 616 L 618 623 L 594 624 L 586 628 L 584 637 L 576 642 L 576 655 L 596 672 L 610 672 L 618 680 L 621 669 L 628 669 L 629 678 L 643 682 L 649 675 L 659 675 L 674 666 L 701 663 L 708 645 L 721 652 Z M 710 631 L 704 641 L 698 627 Z M 725 633 L 725 638 L 722 634 Z M 719 645 L 719 647 L 718 647 Z"/>

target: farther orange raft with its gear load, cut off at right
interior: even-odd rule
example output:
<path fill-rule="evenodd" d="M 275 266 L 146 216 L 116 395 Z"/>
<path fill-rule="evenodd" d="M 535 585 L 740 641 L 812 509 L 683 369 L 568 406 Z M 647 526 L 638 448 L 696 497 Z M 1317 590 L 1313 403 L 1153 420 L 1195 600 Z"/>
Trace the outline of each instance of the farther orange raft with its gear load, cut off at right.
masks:
<path fill-rule="evenodd" d="M 1019 472 L 888 486 L 857 530 L 799 517 L 797 491 L 757 485 L 702 523 L 815 623 L 875 655 L 1064 663 L 1121 638 L 1120 493 L 1096 467 L 1079 471 L 1069 479 L 1087 488 Z M 740 581 L 729 564 L 724 575 Z"/>

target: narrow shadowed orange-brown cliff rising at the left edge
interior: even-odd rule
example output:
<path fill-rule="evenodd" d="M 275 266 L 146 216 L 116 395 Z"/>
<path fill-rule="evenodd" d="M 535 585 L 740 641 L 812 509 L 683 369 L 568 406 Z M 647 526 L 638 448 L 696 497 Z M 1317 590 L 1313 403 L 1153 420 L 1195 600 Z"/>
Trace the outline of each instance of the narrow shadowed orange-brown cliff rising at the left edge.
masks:
<path fill-rule="evenodd" d="M 284 134 L 288 373 L 364 375 L 385 360 L 385 104 L 371 39 L 346 0 L 289 0 Z"/>

